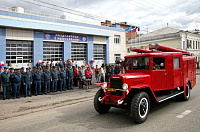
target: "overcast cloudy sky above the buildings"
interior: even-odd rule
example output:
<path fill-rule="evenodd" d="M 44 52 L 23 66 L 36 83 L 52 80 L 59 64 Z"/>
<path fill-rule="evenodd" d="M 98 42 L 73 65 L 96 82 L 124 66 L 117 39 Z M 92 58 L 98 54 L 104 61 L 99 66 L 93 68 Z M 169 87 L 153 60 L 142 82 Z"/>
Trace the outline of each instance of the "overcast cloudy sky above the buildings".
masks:
<path fill-rule="evenodd" d="M 128 22 L 141 27 L 142 33 L 167 26 L 200 29 L 200 0 L 0 0 L 1 6 L 21 6 L 26 10 L 62 15 L 62 11 L 46 8 L 41 1 L 90 13 L 112 21 Z M 31 3 L 43 5 L 34 5 Z M 56 7 L 53 7 L 56 8 Z M 59 10 L 63 10 L 59 8 Z M 79 17 L 79 16 L 77 16 Z M 102 18 L 103 19 L 103 18 Z"/>

